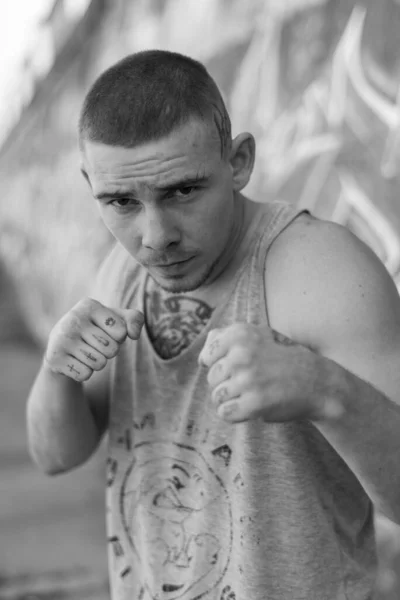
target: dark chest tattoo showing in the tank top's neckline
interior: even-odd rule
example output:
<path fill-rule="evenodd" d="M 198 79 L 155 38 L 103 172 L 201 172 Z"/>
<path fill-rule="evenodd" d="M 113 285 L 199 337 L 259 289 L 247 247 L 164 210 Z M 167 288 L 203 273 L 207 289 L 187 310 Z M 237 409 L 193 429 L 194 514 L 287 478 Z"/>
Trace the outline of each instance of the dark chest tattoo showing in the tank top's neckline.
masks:
<path fill-rule="evenodd" d="M 191 296 L 147 291 L 146 326 L 154 350 L 164 359 L 178 356 L 207 325 L 213 310 Z"/>

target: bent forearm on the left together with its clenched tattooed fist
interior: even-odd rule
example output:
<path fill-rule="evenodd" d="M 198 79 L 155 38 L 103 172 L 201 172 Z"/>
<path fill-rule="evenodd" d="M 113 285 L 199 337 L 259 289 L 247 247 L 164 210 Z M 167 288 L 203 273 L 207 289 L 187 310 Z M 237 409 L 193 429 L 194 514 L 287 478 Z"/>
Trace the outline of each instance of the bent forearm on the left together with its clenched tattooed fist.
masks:
<path fill-rule="evenodd" d="M 108 420 L 109 360 L 142 325 L 139 311 L 84 298 L 53 328 L 27 406 L 31 454 L 47 473 L 77 467 L 97 448 Z"/>

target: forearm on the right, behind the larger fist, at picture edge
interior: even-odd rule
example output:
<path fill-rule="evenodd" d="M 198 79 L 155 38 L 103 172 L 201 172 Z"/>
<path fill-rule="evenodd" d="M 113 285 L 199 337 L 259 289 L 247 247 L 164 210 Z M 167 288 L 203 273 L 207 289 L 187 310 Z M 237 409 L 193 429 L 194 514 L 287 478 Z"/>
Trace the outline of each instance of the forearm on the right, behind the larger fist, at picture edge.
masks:
<path fill-rule="evenodd" d="M 328 406 L 332 401 L 333 410 L 314 425 L 358 477 L 376 508 L 400 523 L 400 407 L 337 363 L 321 360 L 324 397 Z"/>

